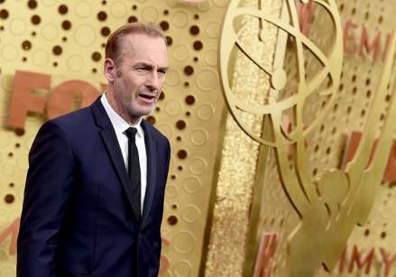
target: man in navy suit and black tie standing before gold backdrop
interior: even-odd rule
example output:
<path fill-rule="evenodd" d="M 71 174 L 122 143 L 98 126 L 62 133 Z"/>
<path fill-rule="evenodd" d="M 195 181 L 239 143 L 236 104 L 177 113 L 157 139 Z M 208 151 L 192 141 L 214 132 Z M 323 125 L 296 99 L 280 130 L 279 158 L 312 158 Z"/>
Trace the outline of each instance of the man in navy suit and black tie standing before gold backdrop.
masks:
<path fill-rule="evenodd" d="M 161 29 L 127 24 L 108 39 L 103 96 L 42 125 L 29 154 L 18 276 L 158 275 L 170 143 L 142 116 L 160 97 L 167 69 Z M 137 167 L 128 161 L 131 126 Z M 138 195 L 129 164 L 141 175 Z"/>

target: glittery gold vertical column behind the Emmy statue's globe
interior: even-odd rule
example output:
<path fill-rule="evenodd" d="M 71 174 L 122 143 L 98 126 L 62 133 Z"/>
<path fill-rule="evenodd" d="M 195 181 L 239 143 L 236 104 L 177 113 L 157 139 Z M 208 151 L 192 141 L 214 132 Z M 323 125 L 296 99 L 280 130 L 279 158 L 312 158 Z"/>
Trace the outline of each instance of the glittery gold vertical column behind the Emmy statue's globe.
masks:
<path fill-rule="evenodd" d="M 236 42 L 239 50 L 232 59 L 220 58 L 224 74 L 232 74 L 233 93 L 249 104 L 263 105 L 270 90 L 270 79 L 252 60 L 272 69 L 273 55 L 277 42 L 277 27 L 253 15 L 240 15 L 241 8 L 265 11 L 266 14 L 279 16 L 281 0 L 247 0 L 243 5 L 232 1 L 226 13 L 223 26 L 220 56 L 230 43 Z M 237 36 L 234 20 L 240 20 L 241 30 Z M 269 38 L 259 41 L 262 33 Z M 236 37 L 237 36 L 237 37 Z M 231 45 L 231 47 L 233 47 Z M 230 70 L 231 69 L 231 70 Z M 224 78 L 223 78 L 224 79 Z M 262 115 L 244 114 L 240 111 L 242 123 L 257 136 L 262 135 Z M 232 115 L 226 116 L 224 144 L 216 184 L 216 199 L 213 209 L 213 222 L 207 252 L 206 276 L 241 276 L 244 272 L 245 257 L 251 225 L 251 206 L 253 187 L 260 168 L 257 168 L 260 144 L 244 133 Z"/>

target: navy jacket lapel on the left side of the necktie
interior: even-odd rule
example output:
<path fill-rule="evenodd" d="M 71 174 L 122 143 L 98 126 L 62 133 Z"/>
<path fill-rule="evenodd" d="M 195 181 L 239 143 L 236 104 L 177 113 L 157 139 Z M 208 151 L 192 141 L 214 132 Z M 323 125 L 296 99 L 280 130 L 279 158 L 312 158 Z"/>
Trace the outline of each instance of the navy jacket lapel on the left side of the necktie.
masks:
<path fill-rule="evenodd" d="M 128 196 L 131 208 L 134 209 L 134 206 L 132 205 L 131 184 L 129 182 L 129 177 L 126 172 L 123 153 L 121 152 L 120 145 L 115 135 L 115 129 L 111 124 L 108 115 L 106 114 L 105 108 L 102 106 L 100 97 L 97 98 L 97 101 L 95 101 L 94 104 L 92 104 L 91 109 L 97 121 L 97 125 L 102 128 L 102 131 L 100 131 L 100 135 L 106 145 L 106 149 L 110 156 L 110 159 L 115 166 L 115 171 L 118 175 L 118 178 L 121 181 L 122 186 L 124 187 L 126 195 Z M 134 216 L 136 218 L 139 218 L 137 217 L 136 210 L 134 210 Z"/>

